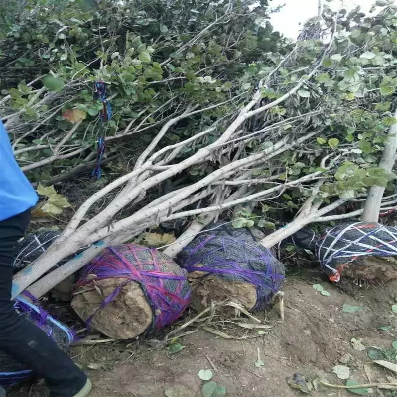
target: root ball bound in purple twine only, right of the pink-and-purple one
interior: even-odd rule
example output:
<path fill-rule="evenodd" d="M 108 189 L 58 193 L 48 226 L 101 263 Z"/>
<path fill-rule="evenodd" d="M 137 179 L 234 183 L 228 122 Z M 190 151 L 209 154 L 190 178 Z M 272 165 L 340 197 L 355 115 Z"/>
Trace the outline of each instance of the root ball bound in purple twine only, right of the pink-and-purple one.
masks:
<path fill-rule="evenodd" d="M 249 311 L 263 309 L 285 278 L 284 265 L 249 230 L 228 226 L 199 234 L 178 255 L 178 263 L 189 273 L 192 305 L 199 311 L 225 299 Z"/>

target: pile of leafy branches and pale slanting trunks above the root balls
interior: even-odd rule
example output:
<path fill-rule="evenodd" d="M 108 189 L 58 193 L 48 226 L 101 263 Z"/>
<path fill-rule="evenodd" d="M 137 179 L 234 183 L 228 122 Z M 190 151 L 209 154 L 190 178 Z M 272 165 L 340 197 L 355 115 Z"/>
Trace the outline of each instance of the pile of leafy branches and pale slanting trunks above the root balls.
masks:
<path fill-rule="evenodd" d="M 46 12 L 61 8 L 59 15 L 71 15 L 75 6 L 65 4 Z M 369 187 L 377 191 L 372 195 L 376 203 L 367 200 L 367 208 L 375 207 L 377 213 L 367 210 L 365 219 L 396 206 L 392 2 L 382 1 L 372 17 L 359 9 L 325 8 L 321 18 L 305 27 L 314 38 L 304 34 L 305 40 L 295 44 L 272 32 L 265 2 L 254 9 L 251 1 L 132 4 L 101 2 L 95 12 L 73 8 L 80 10 L 78 18 L 70 18 L 79 21 L 78 27 L 60 26 L 51 45 L 32 48 L 41 57 L 34 62 L 48 60 L 45 77 L 7 89 L 1 100 L 17 156 L 37 156 L 18 158 L 30 172 L 63 165 L 76 154 L 84 153 L 80 162 L 92 161 L 87 153 L 99 133 L 101 104 L 91 99 L 88 87 L 98 79 L 110 88 L 115 114 L 105 141 L 149 137 L 131 171 L 89 197 L 48 251 L 15 276 L 15 294 L 29 287 L 41 296 L 106 246 L 179 218 L 188 219 L 189 227 L 165 250 L 171 256 L 224 211 L 230 211 L 237 227 L 270 229 L 277 229 L 272 221 L 278 212 L 291 211 L 295 218 L 287 227 L 262 241 L 271 247 L 307 223 L 361 214 L 365 208 L 358 206 L 353 212 L 327 215 L 350 201 L 359 204 Z M 44 17 L 38 7 L 29 18 L 37 22 L 35 12 Z M 91 41 L 84 35 L 95 21 L 102 24 L 93 29 Z M 84 54 L 79 35 L 89 50 Z M 15 33 L 4 40 L 15 41 Z M 12 111 L 15 106 L 21 107 Z M 33 117 L 30 109 L 35 120 L 27 120 Z M 41 146 L 51 153 L 43 153 Z M 181 173 L 191 176 L 187 186 L 117 217 Z M 45 179 L 40 172 L 33 178 Z M 93 204 L 114 191 L 114 199 L 90 216 Z"/>

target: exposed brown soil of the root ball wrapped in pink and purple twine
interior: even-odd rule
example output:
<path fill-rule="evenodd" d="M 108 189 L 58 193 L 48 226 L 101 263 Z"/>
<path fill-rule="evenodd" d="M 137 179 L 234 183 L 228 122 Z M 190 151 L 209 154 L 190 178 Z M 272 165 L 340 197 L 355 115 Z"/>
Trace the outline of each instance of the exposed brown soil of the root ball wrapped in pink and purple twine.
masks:
<path fill-rule="evenodd" d="M 152 309 L 136 281 L 123 285 L 117 296 L 100 308 L 104 299 L 125 282 L 125 278 L 108 278 L 78 287 L 71 306 L 84 321 L 93 315 L 90 328 L 110 338 L 132 339 L 146 331 L 153 321 Z"/>

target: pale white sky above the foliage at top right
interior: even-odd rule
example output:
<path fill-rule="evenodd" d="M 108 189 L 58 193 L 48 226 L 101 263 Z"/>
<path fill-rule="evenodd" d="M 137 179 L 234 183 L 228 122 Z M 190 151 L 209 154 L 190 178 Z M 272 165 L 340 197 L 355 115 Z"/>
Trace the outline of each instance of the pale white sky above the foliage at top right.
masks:
<path fill-rule="evenodd" d="M 296 39 L 304 22 L 317 15 L 317 2 L 318 0 L 271 1 L 270 5 L 274 7 L 286 4 L 279 13 L 272 15 L 271 24 L 274 30 L 278 30 L 288 38 Z M 335 10 L 342 6 L 347 10 L 351 10 L 359 5 L 362 12 L 368 13 L 371 5 L 375 3 L 375 0 L 333 0 L 331 3 L 325 1 L 323 1 L 323 3 Z M 299 25 L 299 22 L 301 22 L 301 25 Z"/>

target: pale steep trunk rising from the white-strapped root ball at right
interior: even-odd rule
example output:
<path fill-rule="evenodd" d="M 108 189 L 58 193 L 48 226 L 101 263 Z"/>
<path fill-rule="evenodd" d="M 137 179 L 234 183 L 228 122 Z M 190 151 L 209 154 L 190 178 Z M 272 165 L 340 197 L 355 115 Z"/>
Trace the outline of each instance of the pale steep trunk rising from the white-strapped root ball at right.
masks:
<path fill-rule="evenodd" d="M 394 112 L 394 117 L 397 118 L 397 109 Z M 381 160 L 379 161 L 379 168 L 386 171 L 391 171 L 396 161 L 397 151 L 397 123 L 393 124 L 388 132 L 388 137 L 385 142 Z M 379 209 L 385 188 L 377 185 L 370 187 L 367 199 L 364 204 L 364 211 L 361 220 L 366 222 L 378 222 Z"/>

